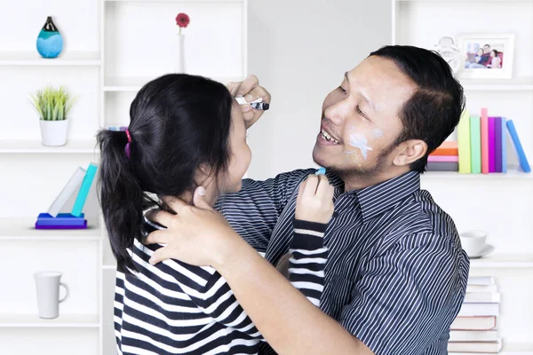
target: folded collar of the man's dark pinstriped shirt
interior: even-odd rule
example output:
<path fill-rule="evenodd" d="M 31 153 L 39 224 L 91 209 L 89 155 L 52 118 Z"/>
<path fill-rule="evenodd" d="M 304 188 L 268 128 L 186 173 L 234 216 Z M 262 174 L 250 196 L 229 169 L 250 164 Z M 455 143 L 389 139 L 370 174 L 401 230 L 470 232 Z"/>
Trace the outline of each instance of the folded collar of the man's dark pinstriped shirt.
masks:
<path fill-rule="evenodd" d="M 362 220 L 366 222 L 393 208 L 411 193 L 419 190 L 420 174 L 411 170 L 378 185 L 355 190 L 354 193 L 361 206 Z"/>

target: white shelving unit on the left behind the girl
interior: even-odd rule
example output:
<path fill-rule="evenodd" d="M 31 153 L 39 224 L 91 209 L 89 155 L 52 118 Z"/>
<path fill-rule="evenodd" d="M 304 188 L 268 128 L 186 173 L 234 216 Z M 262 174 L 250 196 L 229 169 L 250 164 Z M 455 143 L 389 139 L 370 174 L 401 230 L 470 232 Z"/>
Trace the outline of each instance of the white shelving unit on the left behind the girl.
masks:
<path fill-rule="evenodd" d="M 0 353 L 115 354 L 116 266 L 97 201 L 94 196 L 87 201 L 86 230 L 36 230 L 36 217 L 77 166 L 98 162 L 97 130 L 127 125 L 131 100 L 142 85 L 174 71 L 177 13 L 192 20 L 183 32 L 187 73 L 220 83 L 243 80 L 248 3 L 74 0 L 43 6 L 29 0 L 13 6 L 0 24 L 5 39 L 0 95 L 8 98 L 4 118 L 11 120 L 0 130 L 0 248 L 8 254 L 0 267 L 11 270 L 2 281 L 12 285 L 0 294 Z M 23 23 L 19 12 L 27 19 Z M 65 48 L 59 58 L 43 59 L 35 41 L 51 14 Z M 65 85 L 77 98 L 66 146 L 41 145 L 38 119 L 28 105 L 29 94 L 47 84 Z M 40 270 L 62 272 L 61 281 L 70 288 L 57 319 L 36 315 L 32 275 Z"/>

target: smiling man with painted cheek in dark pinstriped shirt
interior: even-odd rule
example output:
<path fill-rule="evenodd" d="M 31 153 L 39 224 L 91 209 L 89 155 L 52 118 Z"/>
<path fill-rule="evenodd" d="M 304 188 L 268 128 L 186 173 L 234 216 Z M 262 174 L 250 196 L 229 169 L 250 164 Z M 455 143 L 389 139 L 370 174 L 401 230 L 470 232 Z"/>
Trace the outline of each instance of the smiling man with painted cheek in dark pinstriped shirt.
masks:
<path fill-rule="evenodd" d="M 232 89 L 270 99 L 253 78 Z M 335 213 L 320 310 L 271 265 L 288 252 L 298 185 L 326 183 L 314 170 L 244 180 L 222 199 L 219 209 L 248 244 L 203 201 L 202 188 L 196 207 L 169 201 L 177 215 L 155 215 L 168 230 L 147 242 L 167 246 L 151 262 L 214 266 L 281 354 L 446 354 L 469 262 L 419 175 L 463 108 L 446 61 L 410 46 L 371 53 L 324 100 L 313 157 L 335 186 Z M 244 110 L 250 122 L 259 118 Z"/>

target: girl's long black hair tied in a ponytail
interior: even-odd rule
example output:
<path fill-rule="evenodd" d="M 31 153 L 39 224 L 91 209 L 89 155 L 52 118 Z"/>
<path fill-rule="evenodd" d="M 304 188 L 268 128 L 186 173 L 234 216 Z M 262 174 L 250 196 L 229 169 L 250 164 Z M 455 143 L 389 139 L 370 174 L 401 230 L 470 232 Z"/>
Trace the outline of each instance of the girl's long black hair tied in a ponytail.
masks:
<path fill-rule="evenodd" d="M 200 164 L 212 177 L 227 171 L 232 100 L 202 76 L 163 75 L 131 102 L 130 157 L 124 131 L 99 131 L 99 201 L 119 271 L 137 270 L 127 249 L 146 233 L 143 211 L 160 206 L 151 193 L 194 191 Z"/>

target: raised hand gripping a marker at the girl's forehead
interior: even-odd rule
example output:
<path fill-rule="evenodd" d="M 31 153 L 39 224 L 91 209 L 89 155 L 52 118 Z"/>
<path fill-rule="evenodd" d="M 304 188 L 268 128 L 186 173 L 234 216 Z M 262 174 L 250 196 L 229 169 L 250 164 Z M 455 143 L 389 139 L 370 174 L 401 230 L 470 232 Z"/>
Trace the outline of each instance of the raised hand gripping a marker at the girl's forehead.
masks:
<path fill-rule="evenodd" d="M 248 75 L 243 82 L 228 83 L 227 90 L 231 92 L 231 96 L 243 96 L 246 101 L 251 102 L 255 99 L 263 99 L 263 102 L 270 103 L 270 93 L 262 86 L 259 86 L 259 79 L 256 75 Z M 242 105 L 244 122 L 246 129 L 249 129 L 265 111 L 251 108 L 250 105 Z"/>

